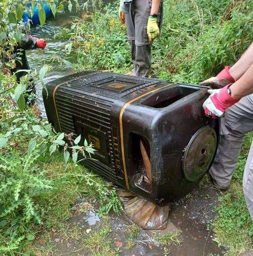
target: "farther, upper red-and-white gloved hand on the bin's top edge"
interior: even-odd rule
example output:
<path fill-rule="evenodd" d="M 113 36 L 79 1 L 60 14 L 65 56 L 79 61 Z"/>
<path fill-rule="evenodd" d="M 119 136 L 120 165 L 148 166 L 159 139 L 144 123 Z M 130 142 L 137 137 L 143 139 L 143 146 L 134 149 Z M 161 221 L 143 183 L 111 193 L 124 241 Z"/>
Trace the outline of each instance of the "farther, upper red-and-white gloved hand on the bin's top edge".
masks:
<path fill-rule="evenodd" d="M 230 66 L 225 66 L 217 76 L 210 77 L 209 79 L 200 83 L 202 86 L 212 86 L 213 88 L 222 88 L 229 83 L 235 83 L 235 78 L 229 72 Z"/>

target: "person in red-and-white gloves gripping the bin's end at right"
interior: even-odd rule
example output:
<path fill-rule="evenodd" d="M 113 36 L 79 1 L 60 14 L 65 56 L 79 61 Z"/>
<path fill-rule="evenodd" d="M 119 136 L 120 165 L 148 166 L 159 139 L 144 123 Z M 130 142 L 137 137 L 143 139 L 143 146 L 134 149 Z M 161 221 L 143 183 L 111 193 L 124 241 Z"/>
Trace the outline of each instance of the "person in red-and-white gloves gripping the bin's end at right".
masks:
<path fill-rule="evenodd" d="M 220 88 L 208 90 L 211 95 L 203 108 L 206 116 L 222 117 L 220 143 L 210 174 L 213 184 L 225 190 L 231 182 L 244 136 L 253 131 L 253 44 L 235 65 L 225 67 L 200 85 Z M 253 219 L 253 142 L 244 169 L 243 191 Z M 240 256 L 253 256 L 253 251 Z"/>

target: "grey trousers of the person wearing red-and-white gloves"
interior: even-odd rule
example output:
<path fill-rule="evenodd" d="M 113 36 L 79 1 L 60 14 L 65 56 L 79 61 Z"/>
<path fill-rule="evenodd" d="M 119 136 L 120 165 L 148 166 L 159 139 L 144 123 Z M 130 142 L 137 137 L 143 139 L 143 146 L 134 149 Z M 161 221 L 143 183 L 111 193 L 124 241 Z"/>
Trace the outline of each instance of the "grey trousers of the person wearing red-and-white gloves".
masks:
<path fill-rule="evenodd" d="M 229 107 L 221 118 L 220 143 L 210 169 L 211 176 L 218 185 L 230 184 L 245 134 L 252 131 L 253 94 Z M 244 169 L 243 191 L 253 219 L 253 142 Z"/>

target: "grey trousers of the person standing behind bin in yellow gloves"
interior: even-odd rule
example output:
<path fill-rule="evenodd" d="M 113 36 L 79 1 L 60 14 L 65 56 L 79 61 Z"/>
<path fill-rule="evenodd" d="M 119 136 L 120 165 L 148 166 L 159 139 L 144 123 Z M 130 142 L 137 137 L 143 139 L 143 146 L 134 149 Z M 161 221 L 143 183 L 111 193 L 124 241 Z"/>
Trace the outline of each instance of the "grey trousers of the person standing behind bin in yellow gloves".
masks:
<path fill-rule="evenodd" d="M 147 25 L 152 0 L 133 0 L 129 12 L 125 14 L 127 38 L 131 47 L 134 63 L 133 75 L 147 77 L 151 67 L 151 45 L 149 44 Z M 162 12 L 162 3 L 158 14 L 158 25 Z"/>

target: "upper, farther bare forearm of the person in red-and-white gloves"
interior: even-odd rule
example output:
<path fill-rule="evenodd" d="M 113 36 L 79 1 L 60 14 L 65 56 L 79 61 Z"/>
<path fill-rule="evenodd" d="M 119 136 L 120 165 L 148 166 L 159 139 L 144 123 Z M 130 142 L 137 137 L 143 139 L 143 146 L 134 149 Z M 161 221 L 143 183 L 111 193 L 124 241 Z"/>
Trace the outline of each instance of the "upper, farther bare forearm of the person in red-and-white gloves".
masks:
<path fill-rule="evenodd" d="M 245 51 L 245 53 L 239 58 L 239 60 L 230 67 L 230 74 L 238 80 L 246 70 L 253 64 L 253 43 Z"/>

